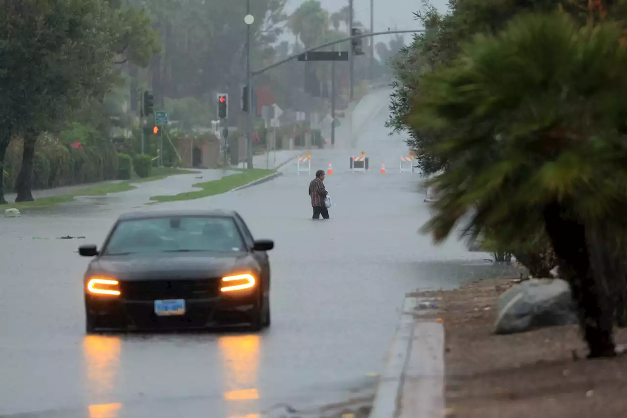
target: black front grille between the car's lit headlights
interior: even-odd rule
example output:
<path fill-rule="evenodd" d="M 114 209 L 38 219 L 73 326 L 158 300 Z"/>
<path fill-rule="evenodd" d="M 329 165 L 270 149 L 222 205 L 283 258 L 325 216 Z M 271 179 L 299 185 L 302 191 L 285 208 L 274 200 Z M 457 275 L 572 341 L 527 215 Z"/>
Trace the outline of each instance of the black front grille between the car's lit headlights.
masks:
<path fill-rule="evenodd" d="M 122 282 L 122 297 L 132 301 L 206 299 L 218 295 L 219 279 L 146 280 Z"/>

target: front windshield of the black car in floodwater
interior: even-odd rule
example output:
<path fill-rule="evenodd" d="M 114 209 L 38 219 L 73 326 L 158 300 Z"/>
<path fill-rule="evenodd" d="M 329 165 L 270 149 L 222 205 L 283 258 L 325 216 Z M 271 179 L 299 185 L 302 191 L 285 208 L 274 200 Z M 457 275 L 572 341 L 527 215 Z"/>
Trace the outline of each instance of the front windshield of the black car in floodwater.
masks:
<path fill-rule="evenodd" d="M 119 223 L 104 255 L 243 250 L 240 232 L 227 217 L 167 217 Z"/>

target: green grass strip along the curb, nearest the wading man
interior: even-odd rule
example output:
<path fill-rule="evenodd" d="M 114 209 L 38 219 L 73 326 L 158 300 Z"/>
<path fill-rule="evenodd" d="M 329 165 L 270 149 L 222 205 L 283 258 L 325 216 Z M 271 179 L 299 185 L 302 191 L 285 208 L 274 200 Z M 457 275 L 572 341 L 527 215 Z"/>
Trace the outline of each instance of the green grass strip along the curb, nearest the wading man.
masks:
<path fill-rule="evenodd" d="M 269 176 L 270 174 L 277 172 L 277 170 L 266 170 L 261 168 L 233 169 L 231 171 L 240 171 L 240 173 L 224 176 L 219 180 L 205 181 L 204 183 L 196 183 L 195 185 L 192 185 L 192 187 L 197 187 L 200 190 L 187 191 L 179 193 L 178 195 L 152 196 L 150 200 L 154 202 L 194 200 L 207 196 L 221 195 L 222 193 L 247 185 L 252 181 L 260 180 L 265 176 Z"/>

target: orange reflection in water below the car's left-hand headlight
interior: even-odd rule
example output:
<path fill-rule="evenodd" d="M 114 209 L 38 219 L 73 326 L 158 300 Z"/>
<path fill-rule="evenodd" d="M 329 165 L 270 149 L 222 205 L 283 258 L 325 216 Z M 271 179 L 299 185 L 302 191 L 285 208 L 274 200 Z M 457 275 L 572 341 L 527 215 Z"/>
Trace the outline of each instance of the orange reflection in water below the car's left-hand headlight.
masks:
<path fill-rule="evenodd" d="M 117 418 L 122 404 L 107 403 L 117 387 L 122 340 L 118 336 L 88 335 L 83 340 L 83 356 L 90 402 L 89 418 Z"/>

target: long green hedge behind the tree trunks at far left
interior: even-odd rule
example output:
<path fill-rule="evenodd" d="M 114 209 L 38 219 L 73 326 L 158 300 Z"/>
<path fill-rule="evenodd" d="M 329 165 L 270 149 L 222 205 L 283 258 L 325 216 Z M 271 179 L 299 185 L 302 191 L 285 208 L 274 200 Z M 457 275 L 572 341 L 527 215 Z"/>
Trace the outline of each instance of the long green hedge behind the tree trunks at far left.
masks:
<path fill-rule="evenodd" d="M 4 190 L 13 191 L 22 165 L 23 142 L 9 144 L 4 159 Z M 59 139 L 42 136 L 35 147 L 33 189 L 115 180 L 118 158 L 110 144 L 85 146 L 63 144 Z"/>

